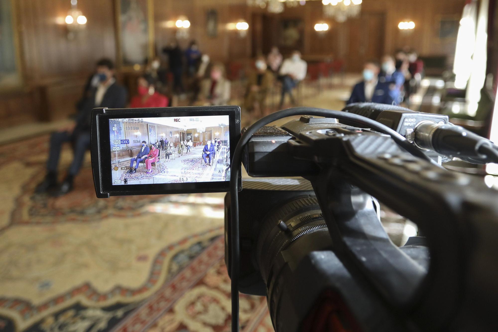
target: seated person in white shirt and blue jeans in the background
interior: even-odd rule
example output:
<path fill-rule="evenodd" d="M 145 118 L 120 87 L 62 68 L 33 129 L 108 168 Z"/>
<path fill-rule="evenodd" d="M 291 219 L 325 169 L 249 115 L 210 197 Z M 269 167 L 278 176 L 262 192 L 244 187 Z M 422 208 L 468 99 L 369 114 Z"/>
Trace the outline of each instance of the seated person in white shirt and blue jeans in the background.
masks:
<path fill-rule="evenodd" d="M 279 108 L 282 108 L 285 95 L 288 94 L 293 105 L 296 100 L 292 95 L 292 89 L 306 77 L 308 65 L 301 59 L 301 52 L 293 51 L 290 58 L 287 58 L 280 67 L 279 74 L 282 80 L 282 94 L 280 96 Z"/>

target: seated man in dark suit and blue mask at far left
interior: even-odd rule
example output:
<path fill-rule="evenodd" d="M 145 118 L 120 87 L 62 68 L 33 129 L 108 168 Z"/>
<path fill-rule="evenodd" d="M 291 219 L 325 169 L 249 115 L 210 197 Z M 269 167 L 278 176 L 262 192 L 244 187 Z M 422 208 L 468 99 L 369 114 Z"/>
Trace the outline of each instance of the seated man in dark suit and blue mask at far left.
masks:
<path fill-rule="evenodd" d="M 90 92 L 84 95 L 77 104 L 78 114 L 75 122 L 60 131 L 52 133 L 50 137 L 50 152 L 47 160 L 47 174 L 38 184 L 35 192 L 50 191 L 54 196 L 61 196 L 73 189 L 73 181 L 78 174 L 86 150 L 90 147 L 90 122 L 92 109 L 95 107 L 124 108 L 126 104 L 126 90 L 116 83 L 114 78 L 114 64 L 109 59 L 102 59 L 97 63 L 96 75 L 99 80 L 97 86 L 91 87 Z M 57 184 L 57 168 L 62 144 L 71 142 L 74 157 L 71 166 L 62 183 Z"/>

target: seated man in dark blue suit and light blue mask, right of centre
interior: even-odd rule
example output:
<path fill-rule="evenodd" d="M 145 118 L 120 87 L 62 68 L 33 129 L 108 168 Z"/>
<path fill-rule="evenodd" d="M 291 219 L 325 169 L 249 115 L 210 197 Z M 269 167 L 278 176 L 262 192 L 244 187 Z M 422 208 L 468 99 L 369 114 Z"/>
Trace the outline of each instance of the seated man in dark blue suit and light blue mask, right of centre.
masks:
<path fill-rule="evenodd" d="M 380 67 L 377 62 L 365 63 L 363 70 L 363 81 L 353 87 L 351 97 L 347 104 L 354 102 L 376 102 L 380 104 L 396 104 L 389 93 L 389 83 L 378 80 Z"/>

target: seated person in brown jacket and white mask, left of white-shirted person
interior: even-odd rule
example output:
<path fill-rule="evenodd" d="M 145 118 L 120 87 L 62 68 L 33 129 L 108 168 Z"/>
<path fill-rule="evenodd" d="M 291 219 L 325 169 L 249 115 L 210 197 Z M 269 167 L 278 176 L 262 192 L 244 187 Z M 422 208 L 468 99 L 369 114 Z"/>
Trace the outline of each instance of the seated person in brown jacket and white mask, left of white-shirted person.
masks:
<path fill-rule="evenodd" d="M 264 115 L 264 103 L 268 91 L 273 85 L 273 74 L 266 70 L 264 57 L 257 57 L 254 63 L 256 70 L 249 72 L 246 86 L 244 106 L 247 111 L 261 117 Z"/>

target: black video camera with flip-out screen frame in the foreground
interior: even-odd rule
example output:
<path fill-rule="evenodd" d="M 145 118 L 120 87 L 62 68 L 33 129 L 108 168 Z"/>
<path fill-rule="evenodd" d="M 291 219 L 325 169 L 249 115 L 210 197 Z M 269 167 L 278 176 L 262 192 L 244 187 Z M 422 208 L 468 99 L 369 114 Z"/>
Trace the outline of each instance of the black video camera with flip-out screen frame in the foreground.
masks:
<path fill-rule="evenodd" d="M 498 194 L 479 178 L 440 166 L 455 156 L 497 163 L 495 145 L 446 116 L 378 104 L 343 112 L 286 109 L 238 137 L 240 109 L 228 109 L 230 185 L 225 177 L 224 184 L 170 186 L 174 179 L 165 176 L 160 186 L 115 190 L 111 184 L 106 191 L 113 176 L 103 171 L 114 165 L 103 158 L 112 154 L 110 119 L 128 118 L 131 110 L 94 110 L 92 165 L 99 197 L 230 190 L 225 259 L 232 331 L 239 329 L 239 291 L 267 296 L 277 332 L 497 331 Z M 145 121 L 221 110 L 140 113 Z M 249 175 L 261 178 L 244 181 L 240 191 L 242 161 Z M 424 237 L 395 246 L 376 199 L 416 223 Z"/>

